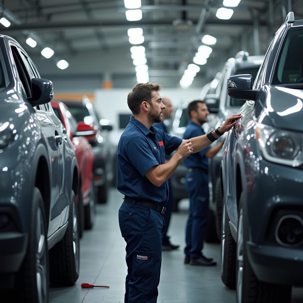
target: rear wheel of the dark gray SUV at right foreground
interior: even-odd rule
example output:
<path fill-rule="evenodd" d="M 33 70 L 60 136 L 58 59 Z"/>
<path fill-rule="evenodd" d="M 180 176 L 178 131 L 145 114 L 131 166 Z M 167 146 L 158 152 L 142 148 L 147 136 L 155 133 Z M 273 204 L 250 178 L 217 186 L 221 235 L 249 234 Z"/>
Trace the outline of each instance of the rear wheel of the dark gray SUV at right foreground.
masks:
<path fill-rule="evenodd" d="M 228 223 L 228 214 L 223 202 L 222 228 L 221 228 L 221 279 L 230 289 L 236 287 L 236 249 Z"/>

